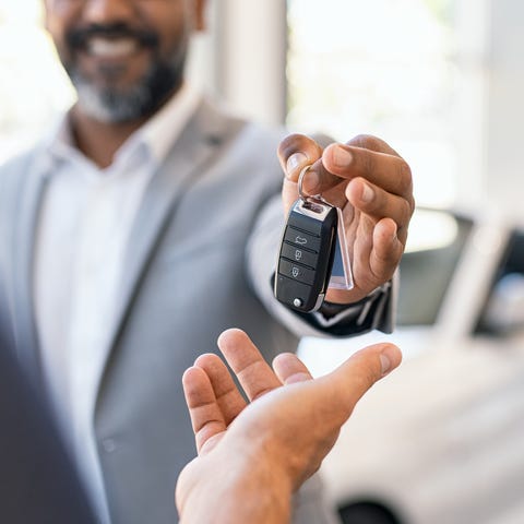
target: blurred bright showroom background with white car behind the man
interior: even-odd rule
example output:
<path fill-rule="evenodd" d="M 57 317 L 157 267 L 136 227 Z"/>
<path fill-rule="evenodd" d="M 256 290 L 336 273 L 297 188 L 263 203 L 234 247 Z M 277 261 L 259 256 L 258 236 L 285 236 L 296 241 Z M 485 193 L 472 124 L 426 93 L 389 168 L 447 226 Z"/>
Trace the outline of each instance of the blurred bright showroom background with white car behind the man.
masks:
<path fill-rule="evenodd" d="M 524 522 L 524 3 L 211 0 L 191 82 L 234 110 L 338 141 L 381 136 L 418 209 L 398 329 L 305 340 L 315 374 L 404 349 L 323 469 L 347 523 Z M 74 100 L 40 0 L 0 0 L 0 162 Z"/>

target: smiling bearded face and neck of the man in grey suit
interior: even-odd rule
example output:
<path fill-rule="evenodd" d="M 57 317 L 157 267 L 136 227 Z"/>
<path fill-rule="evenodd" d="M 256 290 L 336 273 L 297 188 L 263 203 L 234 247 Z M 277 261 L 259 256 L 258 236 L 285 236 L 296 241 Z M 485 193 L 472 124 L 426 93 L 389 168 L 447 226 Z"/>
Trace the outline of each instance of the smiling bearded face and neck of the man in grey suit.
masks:
<path fill-rule="evenodd" d="M 46 1 L 47 28 L 78 91 L 75 139 L 81 150 L 83 140 L 91 144 L 99 166 L 108 166 L 121 143 L 180 90 L 191 33 L 204 25 L 204 3 Z"/>

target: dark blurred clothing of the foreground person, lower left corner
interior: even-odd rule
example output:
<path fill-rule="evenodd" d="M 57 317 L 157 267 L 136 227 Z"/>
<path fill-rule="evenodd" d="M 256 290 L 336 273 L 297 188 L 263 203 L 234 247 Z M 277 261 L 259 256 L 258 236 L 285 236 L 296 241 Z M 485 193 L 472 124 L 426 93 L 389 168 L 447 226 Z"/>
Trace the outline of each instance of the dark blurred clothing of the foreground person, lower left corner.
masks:
<path fill-rule="evenodd" d="M 0 303 L 1 521 L 93 524 L 85 492 L 46 400 L 16 365 L 3 321 Z"/>

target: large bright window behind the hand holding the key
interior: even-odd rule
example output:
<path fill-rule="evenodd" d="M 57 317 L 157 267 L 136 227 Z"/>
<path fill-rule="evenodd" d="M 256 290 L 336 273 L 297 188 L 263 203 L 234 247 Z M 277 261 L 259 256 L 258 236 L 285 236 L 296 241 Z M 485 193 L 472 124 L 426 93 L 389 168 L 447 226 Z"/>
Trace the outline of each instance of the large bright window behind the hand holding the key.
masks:
<path fill-rule="evenodd" d="M 383 138 L 408 159 L 417 203 L 453 203 L 458 155 L 467 154 L 460 129 L 474 126 L 458 110 L 460 86 L 472 82 L 458 67 L 471 51 L 458 3 L 324 0 L 320 9 L 317 0 L 288 0 L 289 128 L 340 141 Z"/>

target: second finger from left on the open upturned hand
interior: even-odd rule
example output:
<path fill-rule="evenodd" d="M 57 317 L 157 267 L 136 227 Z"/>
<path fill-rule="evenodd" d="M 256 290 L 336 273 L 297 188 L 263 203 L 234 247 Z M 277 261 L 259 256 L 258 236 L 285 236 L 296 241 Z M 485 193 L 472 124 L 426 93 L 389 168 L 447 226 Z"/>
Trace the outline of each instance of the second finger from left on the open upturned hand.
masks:
<path fill-rule="evenodd" d="M 217 355 L 201 355 L 194 366 L 203 369 L 209 377 L 216 403 L 222 412 L 226 426 L 246 407 L 246 401 L 237 389 L 229 370 Z"/>

